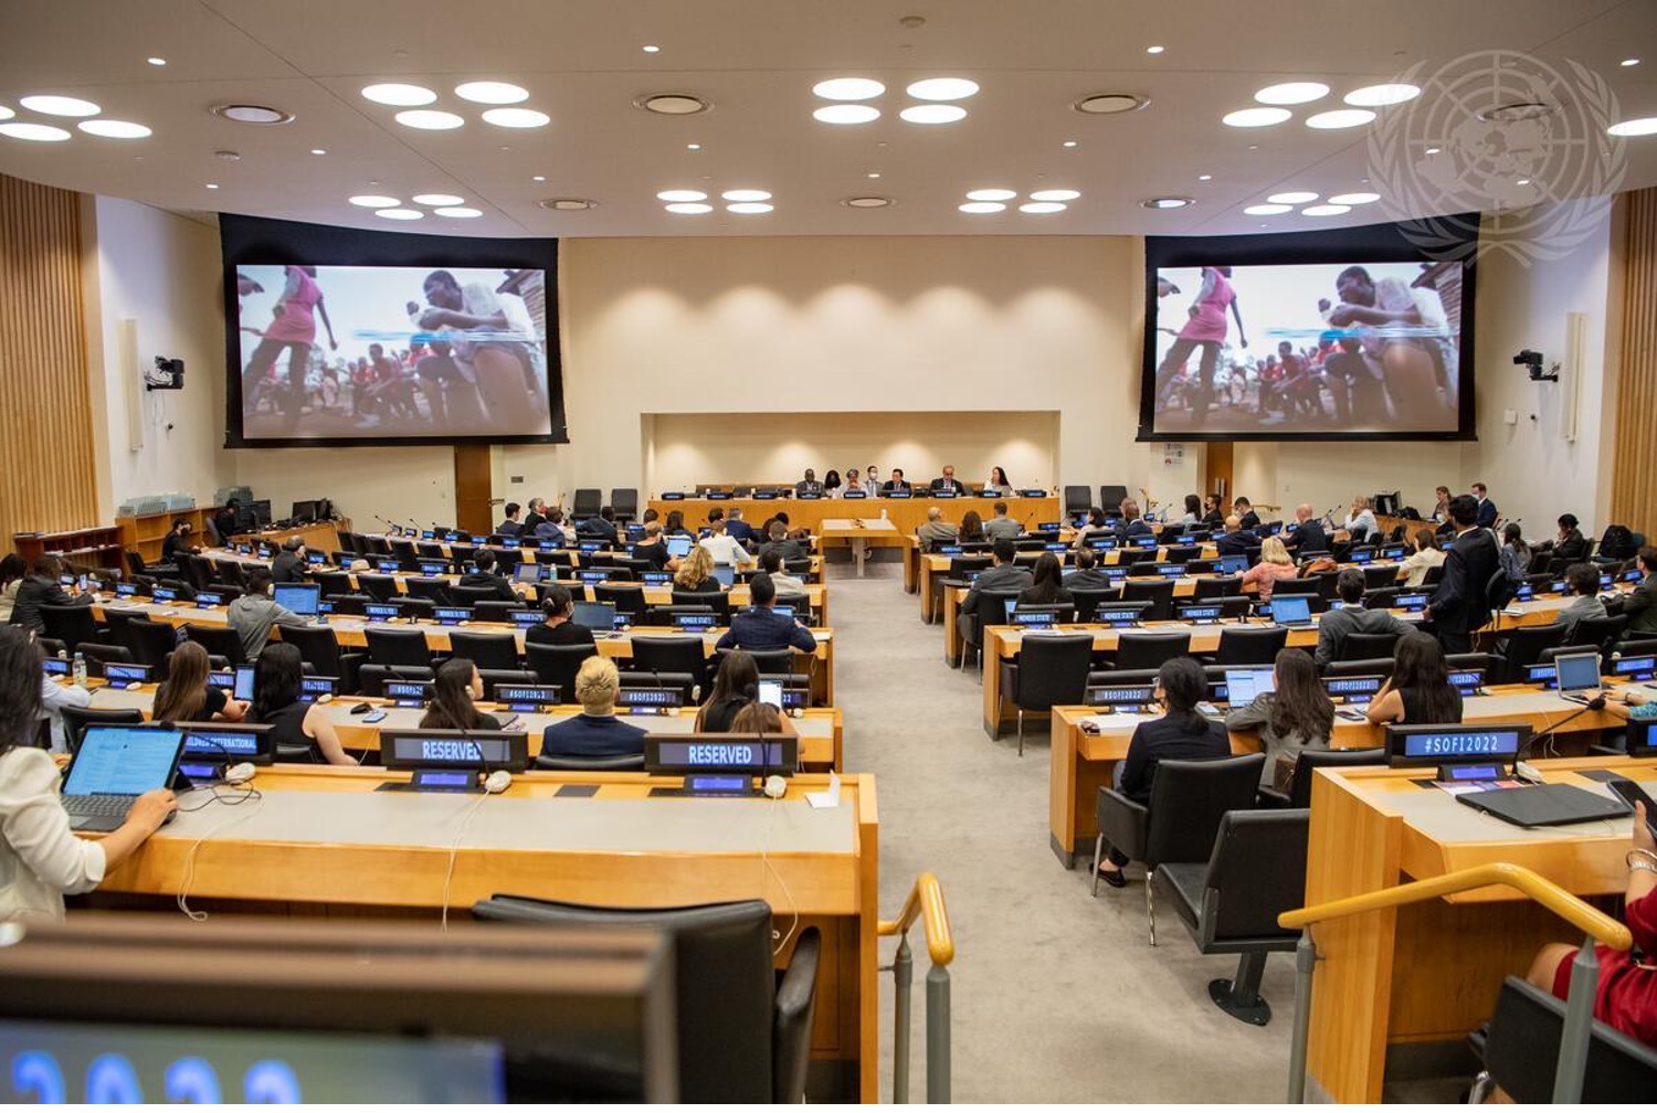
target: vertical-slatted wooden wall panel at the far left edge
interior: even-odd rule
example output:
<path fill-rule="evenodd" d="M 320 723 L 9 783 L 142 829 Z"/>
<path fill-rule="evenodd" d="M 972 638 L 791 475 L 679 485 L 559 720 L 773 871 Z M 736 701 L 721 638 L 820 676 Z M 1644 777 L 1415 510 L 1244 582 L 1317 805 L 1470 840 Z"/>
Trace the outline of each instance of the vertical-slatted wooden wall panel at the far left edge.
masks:
<path fill-rule="evenodd" d="M 0 176 L 0 552 L 98 523 L 76 194 Z"/>

